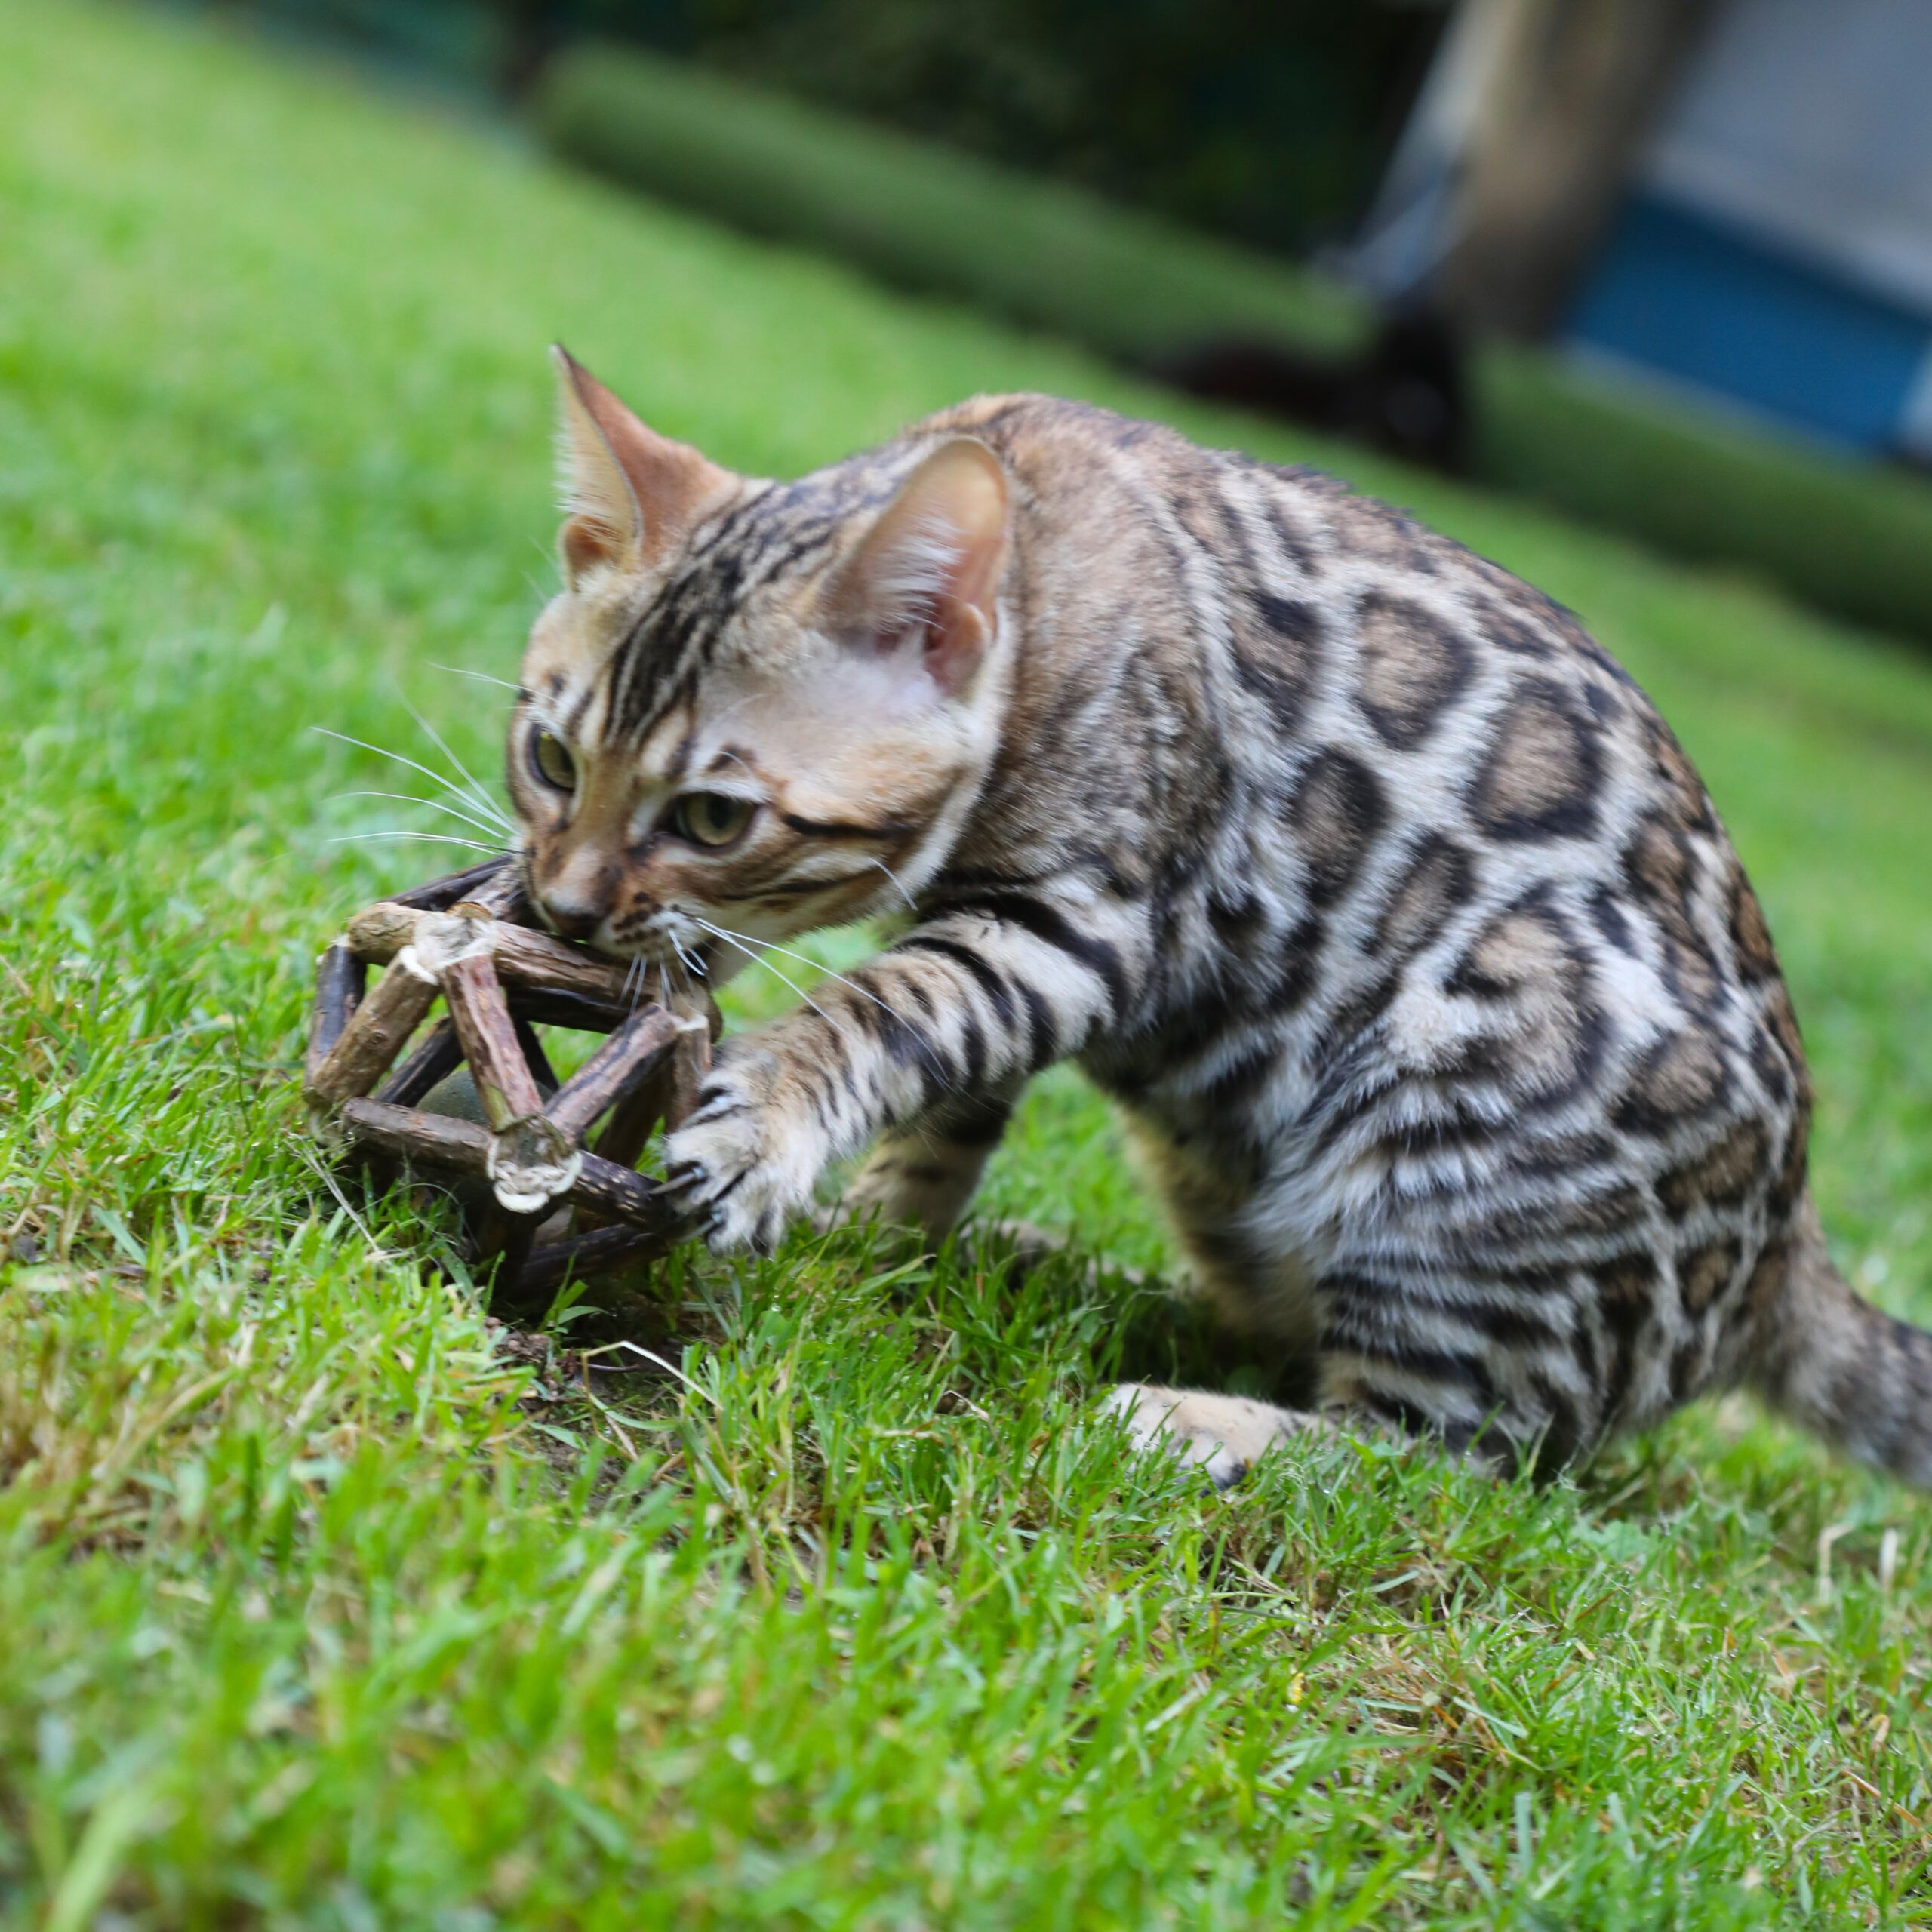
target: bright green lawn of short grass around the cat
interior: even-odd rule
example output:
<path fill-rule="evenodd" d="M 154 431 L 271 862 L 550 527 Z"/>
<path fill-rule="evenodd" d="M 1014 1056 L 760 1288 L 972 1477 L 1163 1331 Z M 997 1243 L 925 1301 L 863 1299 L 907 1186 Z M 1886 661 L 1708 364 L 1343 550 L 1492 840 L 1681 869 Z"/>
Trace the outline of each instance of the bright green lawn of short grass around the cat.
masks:
<path fill-rule="evenodd" d="M 1932 1920 L 1932 1507 L 1743 1405 L 1542 1493 L 1323 1443 L 1219 1499 L 1086 1422 L 1192 1341 L 1074 1260 L 800 1238 L 527 1341 L 303 1150 L 315 949 L 439 852 L 330 842 L 408 786 L 309 726 L 493 765 L 433 667 L 510 674 L 549 582 L 551 336 L 781 473 L 1150 396 L 141 14 L 0 4 L 0 1920 Z M 1660 694 L 1841 1258 L 1932 1316 L 1932 676 L 1343 468 Z M 1165 1252 L 1068 1078 L 991 1192 Z M 566 1350 L 618 1331 L 682 1374 Z"/>

